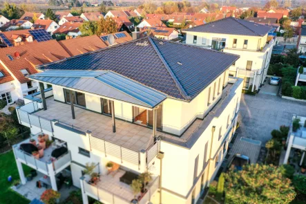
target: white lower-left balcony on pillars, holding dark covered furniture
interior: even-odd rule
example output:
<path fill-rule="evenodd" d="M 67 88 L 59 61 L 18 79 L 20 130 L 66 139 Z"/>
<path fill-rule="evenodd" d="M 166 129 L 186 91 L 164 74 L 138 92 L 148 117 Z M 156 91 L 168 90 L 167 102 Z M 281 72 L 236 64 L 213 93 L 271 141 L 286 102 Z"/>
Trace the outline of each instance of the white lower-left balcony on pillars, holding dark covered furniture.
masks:
<path fill-rule="evenodd" d="M 52 157 L 52 152 L 55 149 L 58 149 L 59 147 L 63 147 L 64 144 L 52 142 L 50 147 L 46 147 L 46 149 L 44 149 L 43 156 L 41 156 L 40 158 L 35 158 L 35 156 L 30 154 L 30 152 L 23 151 L 21 149 L 21 145 L 31 143 L 30 139 L 34 139 L 35 143 L 38 146 L 39 144 L 38 135 L 39 134 L 32 136 L 31 138 L 28 138 L 27 140 L 24 140 L 23 142 L 20 142 L 17 145 L 14 145 L 13 151 L 15 154 L 15 158 L 19 160 L 21 163 L 24 163 L 29 167 L 32 167 L 33 169 L 37 169 L 37 171 L 40 171 L 41 173 L 46 175 L 49 175 L 51 171 L 52 173 L 57 174 L 59 171 L 68 167 L 68 165 L 70 165 L 71 162 L 70 151 L 61 154 L 61 156 L 58 156 L 57 158 Z"/>

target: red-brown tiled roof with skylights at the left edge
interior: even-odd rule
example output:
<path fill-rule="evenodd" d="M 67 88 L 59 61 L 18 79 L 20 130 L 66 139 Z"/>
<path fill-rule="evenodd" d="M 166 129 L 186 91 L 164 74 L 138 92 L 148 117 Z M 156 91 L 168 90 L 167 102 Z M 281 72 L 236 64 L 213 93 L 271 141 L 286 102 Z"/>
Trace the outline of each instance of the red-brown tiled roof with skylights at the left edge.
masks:
<path fill-rule="evenodd" d="M 19 53 L 19 58 L 15 57 L 15 52 Z M 13 60 L 10 60 L 8 55 L 12 56 Z M 1 64 L 3 67 L 8 68 L 8 72 L 21 84 L 29 81 L 21 73 L 22 69 L 26 69 L 29 74 L 34 74 L 37 73 L 35 66 L 66 57 L 70 57 L 70 55 L 56 40 L 0 49 Z"/>

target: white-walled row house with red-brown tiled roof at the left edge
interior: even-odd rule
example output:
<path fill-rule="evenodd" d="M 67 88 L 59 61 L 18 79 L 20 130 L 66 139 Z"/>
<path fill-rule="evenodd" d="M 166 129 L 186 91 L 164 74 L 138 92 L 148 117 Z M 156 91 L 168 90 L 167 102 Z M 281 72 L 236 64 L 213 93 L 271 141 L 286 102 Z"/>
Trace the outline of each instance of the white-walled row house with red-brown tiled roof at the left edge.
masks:
<path fill-rule="evenodd" d="M 6 70 L 3 73 L 5 77 L 8 77 L 9 83 L 0 86 L 0 93 L 10 95 L 10 102 L 15 102 L 18 99 L 23 100 L 24 96 L 39 90 L 38 83 L 27 78 L 28 75 L 37 73 L 35 66 L 55 62 L 66 57 L 70 57 L 70 55 L 55 40 L 1 48 L 0 69 Z"/>

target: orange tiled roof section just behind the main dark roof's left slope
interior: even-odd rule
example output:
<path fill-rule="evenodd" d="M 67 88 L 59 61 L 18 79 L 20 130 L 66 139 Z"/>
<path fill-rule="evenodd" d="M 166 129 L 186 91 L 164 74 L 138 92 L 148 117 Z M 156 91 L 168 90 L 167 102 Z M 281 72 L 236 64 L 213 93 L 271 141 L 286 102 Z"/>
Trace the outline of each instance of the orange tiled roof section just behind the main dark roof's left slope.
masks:
<path fill-rule="evenodd" d="M 58 41 L 71 57 L 105 48 L 104 42 L 97 35 L 77 37 Z"/>

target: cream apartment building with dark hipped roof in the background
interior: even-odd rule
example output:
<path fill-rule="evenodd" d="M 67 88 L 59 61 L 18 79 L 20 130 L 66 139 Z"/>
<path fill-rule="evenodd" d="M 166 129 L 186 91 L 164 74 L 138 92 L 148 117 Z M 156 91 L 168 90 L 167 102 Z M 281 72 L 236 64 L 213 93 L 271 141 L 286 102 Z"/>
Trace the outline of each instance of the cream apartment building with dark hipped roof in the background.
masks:
<path fill-rule="evenodd" d="M 228 17 L 185 30 L 186 44 L 240 55 L 229 69 L 230 76 L 244 79 L 244 89 L 255 91 L 264 82 L 269 68 L 274 40 L 270 27 Z"/>

